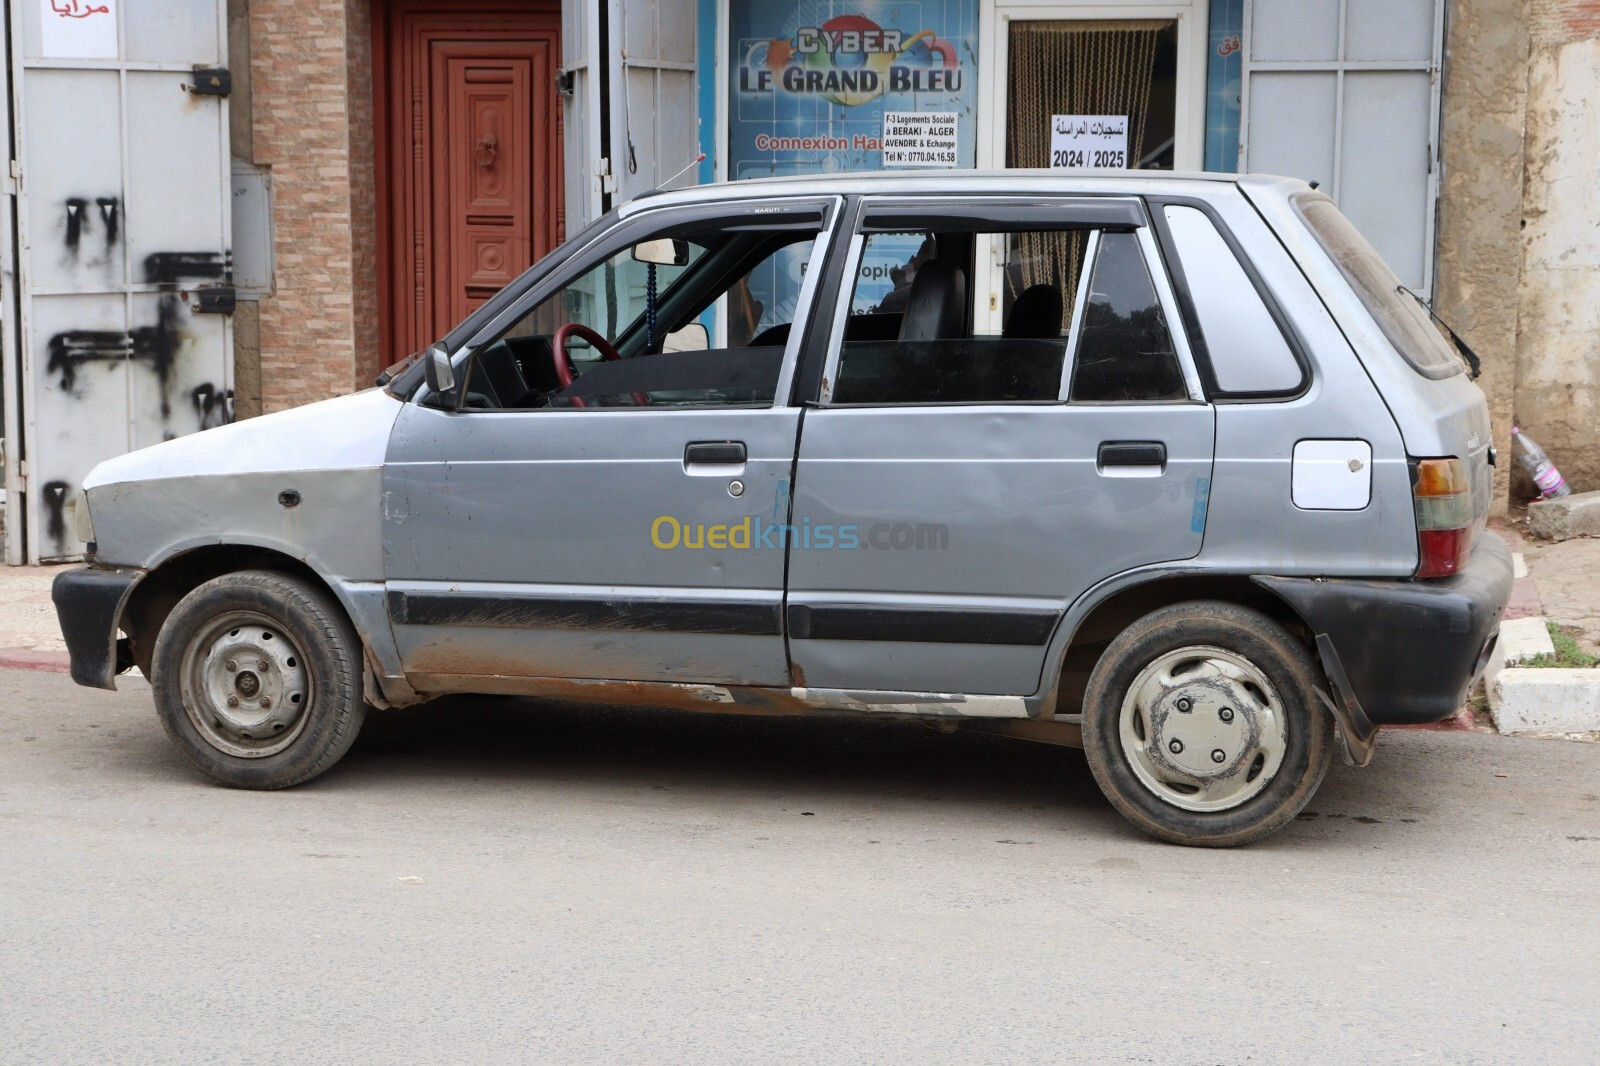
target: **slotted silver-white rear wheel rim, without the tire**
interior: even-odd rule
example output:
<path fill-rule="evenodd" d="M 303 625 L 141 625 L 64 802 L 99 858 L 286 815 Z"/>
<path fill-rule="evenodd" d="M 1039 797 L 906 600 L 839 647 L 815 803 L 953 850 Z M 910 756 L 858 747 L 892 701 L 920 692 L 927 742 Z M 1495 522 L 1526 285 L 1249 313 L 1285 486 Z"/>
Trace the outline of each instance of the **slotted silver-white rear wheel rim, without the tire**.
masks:
<path fill-rule="evenodd" d="M 1162 655 L 1123 695 L 1117 731 L 1139 783 L 1190 812 L 1240 807 L 1277 776 L 1288 749 L 1283 703 L 1267 675 L 1226 648 Z"/>

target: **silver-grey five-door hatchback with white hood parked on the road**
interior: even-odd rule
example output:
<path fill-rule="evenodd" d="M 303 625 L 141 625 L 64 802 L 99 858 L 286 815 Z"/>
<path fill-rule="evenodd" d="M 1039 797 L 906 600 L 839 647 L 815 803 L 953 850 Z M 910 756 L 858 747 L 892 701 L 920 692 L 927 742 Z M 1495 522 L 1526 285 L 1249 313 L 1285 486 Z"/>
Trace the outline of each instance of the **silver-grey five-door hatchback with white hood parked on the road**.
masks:
<path fill-rule="evenodd" d="M 1298 181 L 654 194 L 379 386 L 85 482 L 74 677 L 216 781 L 443 693 L 896 715 L 1243 844 L 1453 714 L 1510 594 L 1483 394 Z"/>

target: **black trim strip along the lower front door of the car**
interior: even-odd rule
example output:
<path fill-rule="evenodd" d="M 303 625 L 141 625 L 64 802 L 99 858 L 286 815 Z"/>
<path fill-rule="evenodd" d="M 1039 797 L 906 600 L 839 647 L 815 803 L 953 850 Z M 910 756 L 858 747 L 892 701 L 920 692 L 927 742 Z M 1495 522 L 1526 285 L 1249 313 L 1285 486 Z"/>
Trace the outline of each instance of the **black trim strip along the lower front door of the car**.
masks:
<path fill-rule="evenodd" d="M 702 632 L 731 637 L 782 634 L 778 603 L 707 600 L 568 600 L 542 595 L 467 592 L 389 592 L 397 626 L 482 626 L 488 629 L 614 629 L 624 632 Z"/>

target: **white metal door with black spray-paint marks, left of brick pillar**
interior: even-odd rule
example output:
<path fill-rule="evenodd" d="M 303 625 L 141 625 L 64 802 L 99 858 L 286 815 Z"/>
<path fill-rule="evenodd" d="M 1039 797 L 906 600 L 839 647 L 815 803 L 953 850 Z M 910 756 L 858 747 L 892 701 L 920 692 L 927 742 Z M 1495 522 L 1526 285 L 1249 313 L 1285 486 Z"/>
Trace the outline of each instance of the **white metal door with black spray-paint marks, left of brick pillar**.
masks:
<path fill-rule="evenodd" d="M 11 0 L 11 26 L 24 520 L 43 562 L 82 551 L 66 503 L 96 463 L 232 419 L 227 22 L 224 0 Z"/>

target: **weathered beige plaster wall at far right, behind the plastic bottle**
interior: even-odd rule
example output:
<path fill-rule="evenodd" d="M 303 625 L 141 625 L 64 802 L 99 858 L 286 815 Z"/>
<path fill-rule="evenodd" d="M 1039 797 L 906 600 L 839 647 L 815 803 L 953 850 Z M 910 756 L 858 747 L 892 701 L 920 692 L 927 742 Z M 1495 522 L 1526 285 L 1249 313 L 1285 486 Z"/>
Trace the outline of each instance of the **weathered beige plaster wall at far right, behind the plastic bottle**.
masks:
<path fill-rule="evenodd" d="M 1600 488 L 1600 0 L 1453 0 L 1438 311 L 1483 357 L 1504 456 L 1496 507 L 1533 495 L 1510 427 Z"/>

